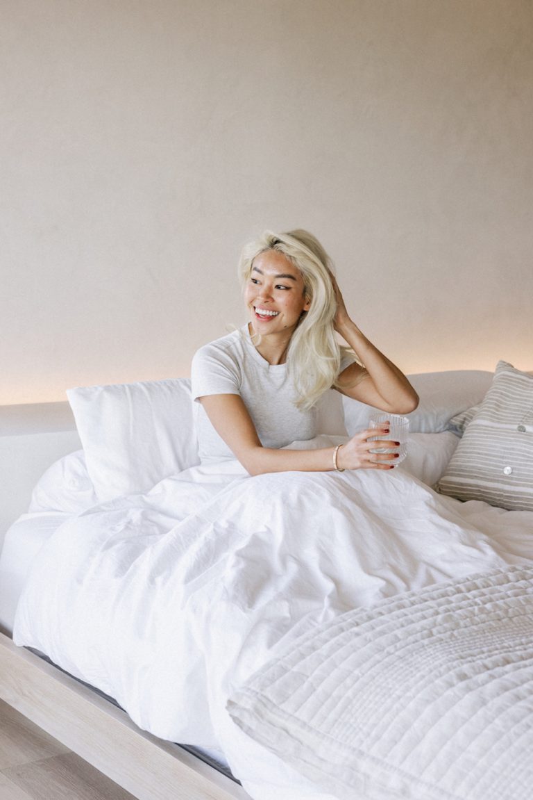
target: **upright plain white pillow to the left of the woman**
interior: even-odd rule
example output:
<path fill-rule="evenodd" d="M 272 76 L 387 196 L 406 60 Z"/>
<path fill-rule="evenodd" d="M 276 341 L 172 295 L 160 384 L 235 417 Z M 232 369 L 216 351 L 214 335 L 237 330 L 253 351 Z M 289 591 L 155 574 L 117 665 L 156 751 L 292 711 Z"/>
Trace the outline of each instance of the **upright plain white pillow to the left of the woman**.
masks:
<path fill-rule="evenodd" d="M 198 463 L 188 378 L 67 391 L 100 501 L 149 491 Z"/>

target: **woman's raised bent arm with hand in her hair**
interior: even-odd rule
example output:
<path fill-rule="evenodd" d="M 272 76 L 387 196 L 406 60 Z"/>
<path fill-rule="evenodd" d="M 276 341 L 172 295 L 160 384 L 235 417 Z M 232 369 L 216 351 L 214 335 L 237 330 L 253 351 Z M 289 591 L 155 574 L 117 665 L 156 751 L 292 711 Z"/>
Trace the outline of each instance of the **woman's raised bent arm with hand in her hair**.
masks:
<path fill-rule="evenodd" d="M 351 364 L 339 376 L 336 388 L 348 397 L 376 406 L 391 414 L 409 414 L 419 398 L 408 379 L 392 361 L 380 353 L 350 318 L 339 286 L 332 275 L 337 310 L 333 324 L 364 364 Z"/>

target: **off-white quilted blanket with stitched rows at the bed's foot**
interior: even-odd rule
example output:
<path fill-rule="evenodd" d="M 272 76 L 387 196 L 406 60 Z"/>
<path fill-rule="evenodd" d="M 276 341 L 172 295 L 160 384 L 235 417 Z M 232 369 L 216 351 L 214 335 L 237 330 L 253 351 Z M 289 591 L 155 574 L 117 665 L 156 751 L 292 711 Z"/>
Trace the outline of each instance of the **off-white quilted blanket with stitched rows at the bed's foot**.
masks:
<path fill-rule="evenodd" d="M 339 798 L 531 800 L 533 568 L 343 614 L 260 670 L 229 711 Z"/>

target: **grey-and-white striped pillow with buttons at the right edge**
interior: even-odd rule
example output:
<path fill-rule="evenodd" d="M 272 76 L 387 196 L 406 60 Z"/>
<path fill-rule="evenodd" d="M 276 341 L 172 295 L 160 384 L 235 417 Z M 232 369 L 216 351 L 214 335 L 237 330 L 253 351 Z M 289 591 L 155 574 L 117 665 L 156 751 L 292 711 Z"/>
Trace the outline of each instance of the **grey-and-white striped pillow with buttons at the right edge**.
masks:
<path fill-rule="evenodd" d="M 500 361 L 436 490 L 533 511 L 533 375 Z"/>

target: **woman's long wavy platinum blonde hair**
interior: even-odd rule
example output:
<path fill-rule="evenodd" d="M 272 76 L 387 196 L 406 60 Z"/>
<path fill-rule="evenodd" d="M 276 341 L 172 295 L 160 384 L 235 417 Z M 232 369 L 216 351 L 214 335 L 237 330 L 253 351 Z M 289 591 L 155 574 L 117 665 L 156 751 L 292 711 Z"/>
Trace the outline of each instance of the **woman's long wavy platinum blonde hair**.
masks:
<path fill-rule="evenodd" d="M 304 297 L 310 302 L 287 350 L 287 369 L 296 386 L 296 406 L 308 410 L 324 391 L 336 385 L 341 348 L 333 329 L 336 298 L 331 274 L 332 262 L 318 239 L 307 230 L 284 234 L 265 231 L 245 246 L 239 261 L 239 278 L 244 287 L 252 273 L 254 258 L 265 250 L 284 254 L 300 270 Z"/>

